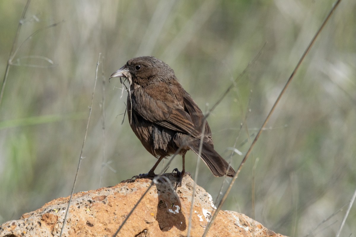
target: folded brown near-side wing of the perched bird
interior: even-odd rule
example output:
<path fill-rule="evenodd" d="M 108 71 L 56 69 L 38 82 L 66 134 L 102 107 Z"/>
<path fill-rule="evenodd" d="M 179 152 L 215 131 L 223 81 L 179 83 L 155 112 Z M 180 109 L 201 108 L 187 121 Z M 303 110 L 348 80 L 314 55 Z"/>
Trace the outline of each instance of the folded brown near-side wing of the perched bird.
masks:
<path fill-rule="evenodd" d="M 133 93 L 132 109 L 152 123 L 198 138 L 201 136 L 204 115 L 184 90 L 182 98 L 177 98 L 179 90 L 183 90 L 183 88 L 162 82 L 159 86 L 156 85 L 153 98 L 152 90 L 135 89 L 135 93 L 140 94 L 135 96 Z M 136 98 L 140 98 L 140 101 L 137 101 Z M 204 134 L 210 137 L 209 125 L 205 124 Z"/>

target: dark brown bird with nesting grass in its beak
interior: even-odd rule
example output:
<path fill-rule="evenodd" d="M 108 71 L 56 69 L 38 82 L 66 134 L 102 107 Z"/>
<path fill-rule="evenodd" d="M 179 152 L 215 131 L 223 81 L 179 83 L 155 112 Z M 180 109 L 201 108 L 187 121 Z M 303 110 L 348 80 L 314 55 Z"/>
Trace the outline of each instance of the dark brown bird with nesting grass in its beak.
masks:
<path fill-rule="evenodd" d="M 235 175 L 234 169 L 214 150 L 203 113 L 166 63 L 152 56 L 132 58 L 112 77 L 128 79 L 130 126 L 146 150 L 158 158 L 148 175 L 154 175 L 158 163 L 178 149 L 183 158 L 180 179 L 185 174 L 184 157 L 188 150 L 198 154 L 214 176 Z M 199 154 L 202 133 L 203 147 Z"/>

